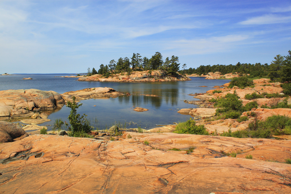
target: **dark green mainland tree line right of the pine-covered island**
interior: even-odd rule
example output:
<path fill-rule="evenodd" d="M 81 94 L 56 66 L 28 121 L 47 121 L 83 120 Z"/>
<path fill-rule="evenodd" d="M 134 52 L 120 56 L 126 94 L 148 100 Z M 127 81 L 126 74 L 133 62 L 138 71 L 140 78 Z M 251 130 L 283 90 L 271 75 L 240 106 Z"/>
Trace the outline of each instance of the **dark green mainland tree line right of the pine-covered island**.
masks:
<path fill-rule="evenodd" d="M 235 73 L 250 74 L 252 77 L 269 77 L 272 80 L 291 82 L 291 51 L 287 56 L 276 55 L 270 65 L 265 63 L 240 63 L 236 65 L 200 65 L 200 67 L 180 70 L 181 74 L 207 74 L 209 72 L 221 72 L 221 74 Z"/>

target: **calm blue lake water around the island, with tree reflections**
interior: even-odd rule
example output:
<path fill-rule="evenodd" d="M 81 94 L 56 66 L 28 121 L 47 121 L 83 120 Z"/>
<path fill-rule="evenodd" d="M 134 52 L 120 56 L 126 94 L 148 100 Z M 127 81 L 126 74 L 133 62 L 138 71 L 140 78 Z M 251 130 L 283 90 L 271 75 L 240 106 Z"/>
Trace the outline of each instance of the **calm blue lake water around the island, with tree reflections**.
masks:
<path fill-rule="evenodd" d="M 132 123 L 130 127 L 141 126 L 145 129 L 156 127 L 156 124 L 170 124 L 172 122 L 185 121 L 189 115 L 181 115 L 177 111 L 181 108 L 195 108 L 195 105 L 186 104 L 184 100 L 197 100 L 191 93 L 202 93 L 211 90 L 213 86 L 220 86 L 230 80 L 205 80 L 201 77 L 190 77 L 191 81 L 176 82 L 95 82 L 76 81 L 77 78 L 61 78 L 54 76 L 68 76 L 70 74 L 23 74 L 13 76 L 0 76 L 0 90 L 39 89 L 55 91 L 60 94 L 68 91 L 84 88 L 109 87 L 116 91 L 133 94 L 117 98 L 97 98 L 82 100 L 83 104 L 77 109 L 79 114 L 85 113 L 87 119 L 97 119 L 97 127 L 104 129 L 111 127 L 113 123 Z M 23 80 L 31 77 L 32 80 Z M 207 86 L 207 87 L 198 87 Z M 153 94 L 159 97 L 148 97 L 141 94 Z M 96 106 L 94 106 L 96 105 Z M 132 109 L 136 106 L 147 108 L 149 111 L 136 112 Z M 61 118 L 68 122 L 70 108 L 63 108 L 47 112 L 48 119 L 52 120 L 40 124 L 52 125 L 54 120 Z M 135 124 L 133 124 L 135 123 Z M 51 127 L 48 127 L 49 129 Z"/>

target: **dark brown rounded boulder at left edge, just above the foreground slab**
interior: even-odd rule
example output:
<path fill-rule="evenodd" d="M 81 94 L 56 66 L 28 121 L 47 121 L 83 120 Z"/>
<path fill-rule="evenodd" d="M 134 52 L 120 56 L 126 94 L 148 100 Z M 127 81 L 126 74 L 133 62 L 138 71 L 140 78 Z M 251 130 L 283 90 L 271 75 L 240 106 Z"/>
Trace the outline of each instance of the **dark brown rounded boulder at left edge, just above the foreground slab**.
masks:
<path fill-rule="evenodd" d="M 29 135 L 19 125 L 0 121 L 0 143 L 13 142 Z"/>

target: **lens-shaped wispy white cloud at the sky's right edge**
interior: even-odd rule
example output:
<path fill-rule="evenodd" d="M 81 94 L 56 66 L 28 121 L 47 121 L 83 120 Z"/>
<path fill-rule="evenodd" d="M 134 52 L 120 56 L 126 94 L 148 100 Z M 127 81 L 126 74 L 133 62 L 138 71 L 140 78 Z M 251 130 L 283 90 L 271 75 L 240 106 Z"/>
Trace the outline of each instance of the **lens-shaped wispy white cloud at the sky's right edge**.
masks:
<path fill-rule="evenodd" d="M 253 17 L 239 23 L 243 25 L 248 25 L 248 24 L 277 24 L 288 22 L 291 22 L 291 16 L 278 16 L 274 14 L 267 14 L 259 17 Z"/>

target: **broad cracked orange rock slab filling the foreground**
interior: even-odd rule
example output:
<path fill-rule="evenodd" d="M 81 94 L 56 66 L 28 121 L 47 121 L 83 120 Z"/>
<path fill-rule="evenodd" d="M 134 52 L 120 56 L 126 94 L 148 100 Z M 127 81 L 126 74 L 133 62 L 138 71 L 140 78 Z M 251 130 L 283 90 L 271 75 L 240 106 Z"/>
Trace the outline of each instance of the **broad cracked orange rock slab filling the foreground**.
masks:
<path fill-rule="evenodd" d="M 291 193 L 291 165 L 259 158 L 282 162 L 290 140 L 134 132 L 123 138 L 128 134 L 118 141 L 39 134 L 2 143 L 0 193 Z M 174 147 L 181 151 L 167 151 Z M 186 154 L 189 147 L 195 149 Z M 238 149 L 245 153 L 236 158 L 221 153 Z"/>

